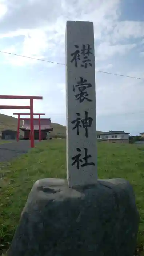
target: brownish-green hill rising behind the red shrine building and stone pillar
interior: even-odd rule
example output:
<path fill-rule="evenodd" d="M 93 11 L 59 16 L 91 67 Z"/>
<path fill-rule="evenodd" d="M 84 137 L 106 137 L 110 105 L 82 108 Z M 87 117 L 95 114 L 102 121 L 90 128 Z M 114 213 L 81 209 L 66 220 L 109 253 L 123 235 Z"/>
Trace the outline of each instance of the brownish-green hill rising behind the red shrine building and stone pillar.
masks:
<path fill-rule="evenodd" d="M 22 126 L 22 124 L 23 122 L 20 121 L 20 127 Z M 66 137 L 66 127 L 64 125 L 51 123 L 51 127 L 53 127 L 53 132 L 51 132 L 52 137 L 60 137 L 60 138 Z M 11 130 L 17 131 L 17 118 L 0 114 L 0 135 L 1 135 L 1 131 L 5 129 L 11 129 Z M 97 134 L 99 133 L 101 132 L 97 131 Z M 23 135 L 23 132 L 20 131 L 20 134 Z"/>

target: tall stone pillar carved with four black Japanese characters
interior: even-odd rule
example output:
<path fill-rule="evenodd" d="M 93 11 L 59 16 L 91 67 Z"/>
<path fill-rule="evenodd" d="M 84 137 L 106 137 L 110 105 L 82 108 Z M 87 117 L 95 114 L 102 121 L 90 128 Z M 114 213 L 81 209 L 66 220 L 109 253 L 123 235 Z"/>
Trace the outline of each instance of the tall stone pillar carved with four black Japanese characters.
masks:
<path fill-rule="evenodd" d="M 96 93 L 93 22 L 66 27 L 67 180 L 96 184 Z"/>

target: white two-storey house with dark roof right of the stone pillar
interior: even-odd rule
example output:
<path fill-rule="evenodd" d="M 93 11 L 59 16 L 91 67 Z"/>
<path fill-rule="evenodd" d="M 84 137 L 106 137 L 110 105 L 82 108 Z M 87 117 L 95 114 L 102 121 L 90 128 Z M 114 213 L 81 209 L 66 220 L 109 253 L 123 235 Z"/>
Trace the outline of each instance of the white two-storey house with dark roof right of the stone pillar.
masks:
<path fill-rule="evenodd" d="M 124 131 L 109 131 L 97 135 L 98 141 L 129 143 L 129 133 Z"/>

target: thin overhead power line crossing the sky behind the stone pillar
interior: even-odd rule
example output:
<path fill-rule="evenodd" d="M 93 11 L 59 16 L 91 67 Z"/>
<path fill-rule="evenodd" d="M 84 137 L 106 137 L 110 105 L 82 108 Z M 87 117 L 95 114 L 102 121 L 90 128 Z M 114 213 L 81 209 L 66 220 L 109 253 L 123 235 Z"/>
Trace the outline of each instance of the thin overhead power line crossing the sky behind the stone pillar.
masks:
<path fill-rule="evenodd" d="M 10 54 L 10 55 L 18 56 L 18 57 L 27 58 L 27 59 L 45 61 L 45 62 L 48 62 L 48 63 L 59 64 L 59 65 L 65 66 L 64 63 L 59 63 L 59 62 L 55 62 L 55 61 L 43 60 L 43 59 L 38 59 L 38 58 L 34 58 L 34 57 L 28 57 L 28 56 L 24 56 L 24 55 L 20 55 L 20 54 L 16 54 L 16 53 L 4 52 L 4 51 L 0 51 L 0 52 L 1 53 L 5 53 L 5 54 Z M 121 74 L 116 74 L 116 73 L 111 73 L 111 72 L 106 72 L 106 71 L 101 71 L 101 70 L 95 70 L 95 71 L 96 72 L 100 72 L 100 73 L 104 73 L 104 74 L 109 74 L 109 75 L 123 76 L 123 77 L 127 77 L 127 78 L 144 80 L 144 78 L 140 78 L 140 77 L 136 77 L 136 76 L 121 75 Z"/>

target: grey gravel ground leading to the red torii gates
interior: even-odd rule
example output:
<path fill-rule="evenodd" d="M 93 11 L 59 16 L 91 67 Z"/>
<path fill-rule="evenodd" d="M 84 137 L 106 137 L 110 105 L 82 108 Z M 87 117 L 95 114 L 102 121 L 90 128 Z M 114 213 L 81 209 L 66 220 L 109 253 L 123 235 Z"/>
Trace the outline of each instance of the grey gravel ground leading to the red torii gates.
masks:
<path fill-rule="evenodd" d="M 39 140 L 35 141 L 35 144 Z M 22 154 L 28 152 L 31 149 L 30 140 L 20 140 L 10 143 L 4 143 L 0 145 L 0 162 L 8 162 L 14 158 L 19 157 Z"/>

